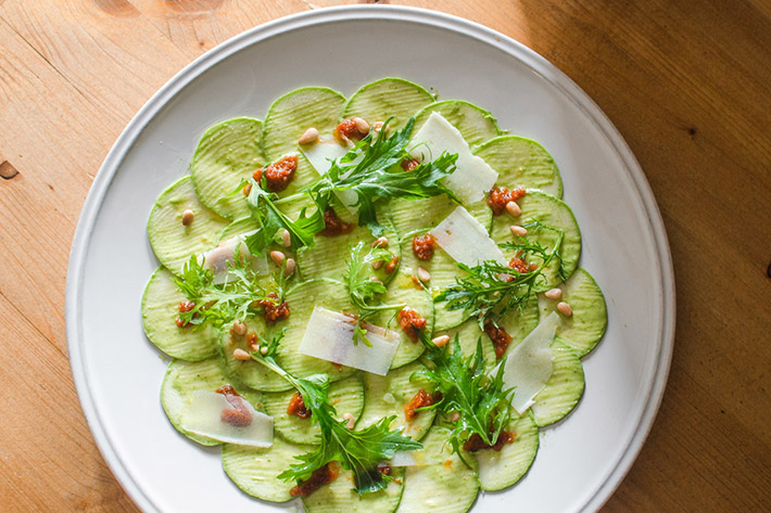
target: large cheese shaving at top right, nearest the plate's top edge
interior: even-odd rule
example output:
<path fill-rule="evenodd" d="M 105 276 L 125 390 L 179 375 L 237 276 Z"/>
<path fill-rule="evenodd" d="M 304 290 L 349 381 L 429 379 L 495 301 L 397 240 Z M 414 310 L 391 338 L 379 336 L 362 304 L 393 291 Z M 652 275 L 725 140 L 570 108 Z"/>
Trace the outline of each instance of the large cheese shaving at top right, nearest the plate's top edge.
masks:
<path fill-rule="evenodd" d="M 433 112 L 413 138 L 409 154 L 425 162 L 444 152 L 458 155 L 455 171 L 442 181 L 444 187 L 464 203 L 483 198 L 495 184 L 498 174 L 482 157 L 471 153 L 457 128 L 441 114 Z"/>

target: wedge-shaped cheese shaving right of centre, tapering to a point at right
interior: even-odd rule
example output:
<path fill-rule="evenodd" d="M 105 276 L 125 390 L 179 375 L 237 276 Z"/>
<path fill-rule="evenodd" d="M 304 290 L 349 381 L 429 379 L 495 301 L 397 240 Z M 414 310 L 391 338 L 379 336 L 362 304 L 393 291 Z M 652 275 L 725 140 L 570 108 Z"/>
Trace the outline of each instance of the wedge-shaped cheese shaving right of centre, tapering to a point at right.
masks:
<path fill-rule="evenodd" d="M 484 260 L 506 264 L 495 241 L 463 206 L 453 210 L 430 233 L 451 257 L 469 267 L 479 266 Z"/>

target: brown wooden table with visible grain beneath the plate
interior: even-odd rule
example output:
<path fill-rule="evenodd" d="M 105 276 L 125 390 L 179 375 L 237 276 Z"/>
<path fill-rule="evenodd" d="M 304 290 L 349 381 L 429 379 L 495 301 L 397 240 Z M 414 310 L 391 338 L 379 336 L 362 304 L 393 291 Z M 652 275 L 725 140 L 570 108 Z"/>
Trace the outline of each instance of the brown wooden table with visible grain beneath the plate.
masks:
<path fill-rule="evenodd" d="M 80 206 L 116 137 L 194 57 L 327 0 L 0 0 L 0 510 L 137 511 L 86 425 L 64 336 Z M 396 3 L 396 2 L 394 2 Z M 771 508 L 771 2 L 416 0 L 532 48 L 640 159 L 678 329 L 640 459 L 604 512 Z"/>

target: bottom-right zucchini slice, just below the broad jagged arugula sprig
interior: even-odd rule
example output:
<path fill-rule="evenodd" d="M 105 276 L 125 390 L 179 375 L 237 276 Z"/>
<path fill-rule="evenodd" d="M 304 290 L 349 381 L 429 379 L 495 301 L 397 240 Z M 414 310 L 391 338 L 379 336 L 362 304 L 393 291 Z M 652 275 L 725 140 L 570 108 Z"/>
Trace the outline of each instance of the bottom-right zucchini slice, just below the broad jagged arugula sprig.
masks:
<path fill-rule="evenodd" d="M 533 464 L 539 450 L 539 428 L 530 413 L 516 418 L 506 427 L 514 441 L 500 451 L 481 449 L 473 453 L 479 463 L 479 482 L 483 490 L 503 490 L 519 479 Z"/>

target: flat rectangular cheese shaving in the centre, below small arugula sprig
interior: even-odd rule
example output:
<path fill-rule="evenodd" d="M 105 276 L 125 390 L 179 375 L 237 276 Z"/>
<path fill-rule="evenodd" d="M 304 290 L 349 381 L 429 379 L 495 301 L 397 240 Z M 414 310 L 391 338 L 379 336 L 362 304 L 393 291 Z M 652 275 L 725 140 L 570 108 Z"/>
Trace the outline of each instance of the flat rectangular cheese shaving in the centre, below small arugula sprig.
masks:
<path fill-rule="evenodd" d="M 354 322 L 344 313 L 315 307 L 300 343 L 300 352 L 384 376 L 399 348 L 399 335 L 365 323 L 367 339 L 372 345 L 362 342 L 354 345 Z"/>

